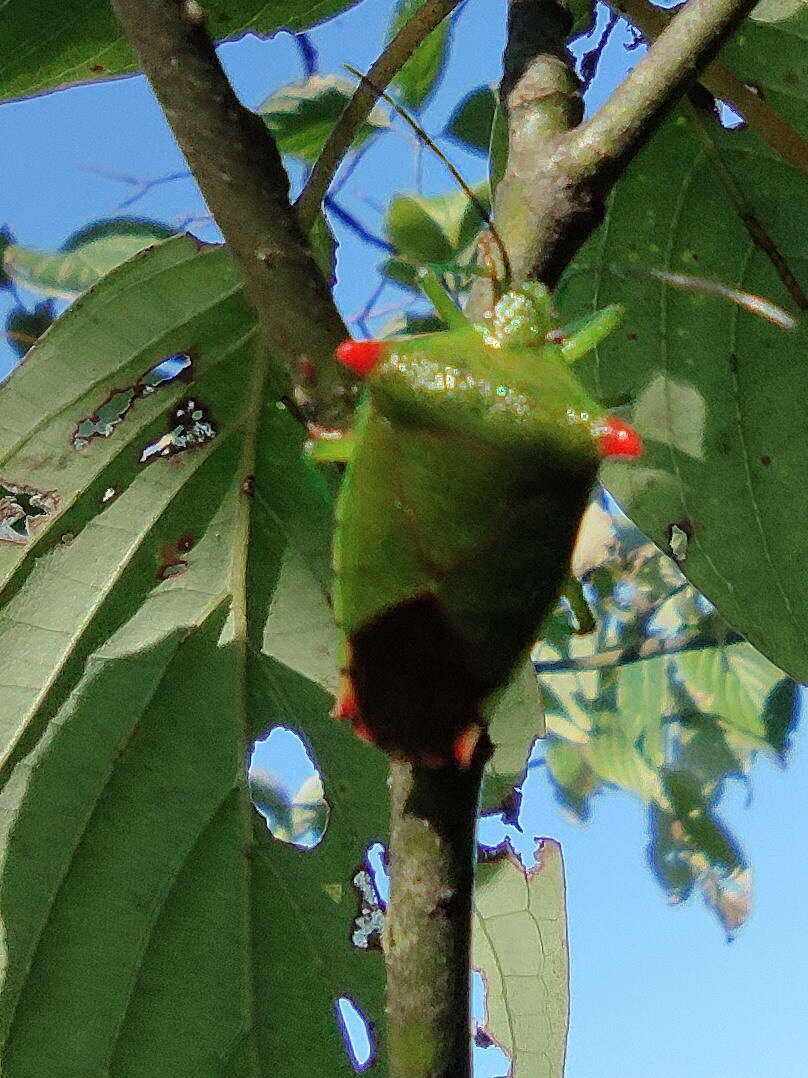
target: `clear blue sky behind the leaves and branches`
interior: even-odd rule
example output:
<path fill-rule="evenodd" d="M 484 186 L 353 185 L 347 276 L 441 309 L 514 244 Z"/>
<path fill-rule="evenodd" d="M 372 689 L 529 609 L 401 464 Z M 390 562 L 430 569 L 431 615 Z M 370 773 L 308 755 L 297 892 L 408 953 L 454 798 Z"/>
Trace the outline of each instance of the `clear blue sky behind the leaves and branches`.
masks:
<path fill-rule="evenodd" d="M 312 40 L 322 70 L 337 70 L 344 61 L 367 67 L 390 6 L 391 0 L 364 0 L 317 30 Z M 504 0 L 465 4 L 454 63 L 422 118 L 432 134 L 440 134 L 459 96 L 497 79 L 504 6 Z M 635 61 L 638 54 L 629 55 Z M 222 56 L 248 105 L 301 72 L 298 50 L 285 34 L 270 42 L 248 38 L 225 46 Z M 615 41 L 613 78 L 625 60 Z M 145 179 L 183 167 L 139 78 L 3 105 L 0 140 L 0 224 L 19 243 L 44 249 L 90 220 L 121 212 L 130 189 L 113 174 Z M 480 178 L 480 158 L 447 148 L 470 181 Z M 351 209 L 365 225 L 376 229 L 390 194 L 412 188 L 419 161 L 427 191 L 451 190 L 442 166 L 403 129 L 367 154 L 361 184 L 351 189 Z M 177 224 L 205 209 L 193 182 L 182 180 L 155 186 L 130 211 Z M 211 229 L 199 234 L 215 235 Z M 338 234 L 337 299 L 350 318 L 375 284 L 376 253 Z M 401 293 L 386 292 L 380 320 L 389 320 L 401 302 Z M 3 304 L 0 295 L 4 318 Z M 0 344 L 0 372 L 10 362 L 11 351 Z M 734 783 L 724 799 L 724 815 L 755 871 L 754 912 L 732 943 L 698 899 L 666 904 L 645 862 L 645 821 L 637 802 L 601 796 L 593 819 L 574 825 L 555 804 L 543 770 L 531 774 L 529 826 L 561 841 L 567 866 L 573 993 L 568 1078 L 806 1073 L 808 746 L 799 731 L 794 741 L 788 770 L 760 761 L 751 797 Z"/>

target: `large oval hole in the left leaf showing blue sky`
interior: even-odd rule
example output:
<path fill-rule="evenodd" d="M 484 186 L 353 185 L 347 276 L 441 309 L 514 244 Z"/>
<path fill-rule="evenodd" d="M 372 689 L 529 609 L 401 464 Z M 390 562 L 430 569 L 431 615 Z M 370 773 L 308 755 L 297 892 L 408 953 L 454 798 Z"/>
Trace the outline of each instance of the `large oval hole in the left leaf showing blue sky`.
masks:
<path fill-rule="evenodd" d="M 252 802 L 276 839 L 301 849 L 319 845 L 329 823 L 329 803 L 320 773 L 294 730 L 273 727 L 255 741 L 248 775 Z"/>

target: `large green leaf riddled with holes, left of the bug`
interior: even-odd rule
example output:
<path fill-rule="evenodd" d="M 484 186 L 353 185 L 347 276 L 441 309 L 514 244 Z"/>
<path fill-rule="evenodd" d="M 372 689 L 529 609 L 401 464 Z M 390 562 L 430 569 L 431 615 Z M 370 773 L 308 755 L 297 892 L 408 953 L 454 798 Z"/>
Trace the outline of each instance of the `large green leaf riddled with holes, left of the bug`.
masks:
<path fill-rule="evenodd" d="M 180 237 L 105 278 L 0 390 L 10 1078 L 66 1060 L 347 1076 L 334 999 L 350 984 L 382 1019 L 379 956 L 349 941 L 386 761 L 312 678 L 331 496 L 226 251 Z M 89 432 L 115 397 L 117 421 Z M 276 602 L 297 622 L 281 630 Z M 309 852 L 250 801 L 249 749 L 275 724 L 322 776 Z"/>

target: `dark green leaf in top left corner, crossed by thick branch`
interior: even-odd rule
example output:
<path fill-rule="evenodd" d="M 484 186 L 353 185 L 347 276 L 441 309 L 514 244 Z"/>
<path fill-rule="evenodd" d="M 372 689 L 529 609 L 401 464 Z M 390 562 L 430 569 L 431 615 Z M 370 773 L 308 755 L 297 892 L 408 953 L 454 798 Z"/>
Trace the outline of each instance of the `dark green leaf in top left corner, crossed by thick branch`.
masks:
<path fill-rule="evenodd" d="M 215 41 L 246 31 L 306 30 L 352 6 L 351 0 L 235 0 L 210 9 Z M 43 32 L 43 28 L 47 32 Z M 0 44 L 0 99 L 136 71 L 138 65 L 107 0 L 9 0 Z"/>

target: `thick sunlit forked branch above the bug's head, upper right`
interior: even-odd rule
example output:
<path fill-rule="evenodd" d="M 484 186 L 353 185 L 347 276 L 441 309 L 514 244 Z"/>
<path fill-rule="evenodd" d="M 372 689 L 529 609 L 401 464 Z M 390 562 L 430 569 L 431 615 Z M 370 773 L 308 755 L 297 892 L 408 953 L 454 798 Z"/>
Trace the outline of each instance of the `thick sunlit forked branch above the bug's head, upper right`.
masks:
<path fill-rule="evenodd" d="M 511 0 L 512 19 L 526 4 Z M 555 87 L 546 78 L 553 64 L 562 66 L 571 87 L 571 69 L 559 59 L 558 43 L 543 53 L 537 49 L 525 74 L 506 94 L 509 163 L 494 202 L 494 221 L 515 281 L 535 277 L 555 285 L 602 220 L 617 177 L 753 4 L 689 0 L 609 100 L 574 128 L 571 109 L 549 112 L 549 105 L 560 101 L 563 77 L 559 72 Z M 558 4 L 542 0 L 530 6 Z M 534 40 L 541 47 L 539 34 Z M 562 50 L 560 55 L 566 55 Z M 554 123 L 537 120 L 537 102 Z M 485 305 L 482 288 L 473 298 L 475 305 Z"/>

